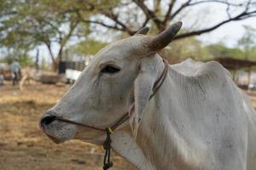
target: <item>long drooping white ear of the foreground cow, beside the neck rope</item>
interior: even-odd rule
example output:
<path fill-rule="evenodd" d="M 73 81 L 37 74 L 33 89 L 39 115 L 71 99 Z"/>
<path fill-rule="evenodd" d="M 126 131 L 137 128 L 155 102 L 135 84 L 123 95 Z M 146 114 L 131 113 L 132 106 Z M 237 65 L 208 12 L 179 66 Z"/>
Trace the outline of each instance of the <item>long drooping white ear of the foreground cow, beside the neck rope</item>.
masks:
<path fill-rule="evenodd" d="M 157 69 L 154 55 L 142 58 L 140 71 L 134 82 L 134 104 L 130 106 L 129 111 L 129 122 L 134 138 L 137 137 L 137 128 L 143 118 L 156 78 Z"/>

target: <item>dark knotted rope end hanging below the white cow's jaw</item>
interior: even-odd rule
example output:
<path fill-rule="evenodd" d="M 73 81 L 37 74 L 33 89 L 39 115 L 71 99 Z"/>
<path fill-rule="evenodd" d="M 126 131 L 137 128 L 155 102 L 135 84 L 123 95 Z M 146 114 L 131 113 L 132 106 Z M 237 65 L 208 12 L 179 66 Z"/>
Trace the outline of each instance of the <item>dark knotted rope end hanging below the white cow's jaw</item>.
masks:
<path fill-rule="evenodd" d="M 111 150 L 111 139 L 110 134 L 113 133 L 110 127 L 106 128 L 107 137 L 103 144 L 105 151 L 104 161 L 103 161 L 103 170 L 108 170 L 108 168 L 113 167 L 113 162 L 110 161 L 110 150 Z"/>

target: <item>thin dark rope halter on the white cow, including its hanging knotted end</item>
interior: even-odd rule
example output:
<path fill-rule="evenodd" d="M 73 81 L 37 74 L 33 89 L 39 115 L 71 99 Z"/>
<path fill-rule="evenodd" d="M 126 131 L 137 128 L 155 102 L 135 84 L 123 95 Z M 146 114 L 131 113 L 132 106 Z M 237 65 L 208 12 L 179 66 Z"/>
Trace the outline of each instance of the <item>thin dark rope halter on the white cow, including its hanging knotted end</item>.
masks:
<path fill-rule="evenodd" d="M 164 80 L 166 78 L 166 74 L 167 74 L 167 71 L 168 71 L 168 61 L 166 59 L 163 59 L 163 62 L 165 64 L 164 71 L 161 73 L 160 77 L 156 80 L 156 82 L 154 82 L 153 94 L 150 95 L 149 99 L 151 99 L 154 96 L 154 94 L 157 92 L 157 90 L 160 88 L 160 86 L 162 85 L 162 83 L 164 82 Z M 125 115 L 121 116 L 119 118 L 119 120 L 117 122 L 115 122 L 111 127 L 107 127 L 105 129 L 102 129 L 102 128 L 86 125 L 86 124 L 81 123 L 81 122 L 73 122 L 71 120 L 55 116 L 55 120 L 57 120 L 57 121 L 67 122 L 67 123 L 78 125 L 78 126 L 81 126 L 81 127 L 87 127 L 87 128 L 91 128 L 91 129 L 94 129 L 94 130 L 106 132 L 107 137 L 106 137 L 105 142 L 103 144 L 103 148 L 105 150 L 105 156 L 104 156 L 103 167 L 102 167 L 103 170 L 108 170 L 108 168 L 113 167 L 113 162 L 110 161 L 110 150 L 111 150 L 110 134 L 113 133 L 113 131 L 117 127 L 122 125 L 128 119 L 129 119 L 129 113 L 126 112 Z"/>

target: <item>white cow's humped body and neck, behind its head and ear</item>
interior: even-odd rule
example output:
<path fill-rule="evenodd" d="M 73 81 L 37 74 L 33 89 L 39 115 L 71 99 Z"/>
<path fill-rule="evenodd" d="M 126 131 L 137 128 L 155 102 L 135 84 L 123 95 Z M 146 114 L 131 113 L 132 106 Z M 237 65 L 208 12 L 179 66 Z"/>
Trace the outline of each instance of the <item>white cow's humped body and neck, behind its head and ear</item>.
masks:
<path fill-rule="evenodd" d="M 187 59 L 169 67 L 137 141 L 127 135 L 129 129 L 119 131 L 113 148 L 142 170 L 253 170 L 254 114 L 222 65 Z"/>

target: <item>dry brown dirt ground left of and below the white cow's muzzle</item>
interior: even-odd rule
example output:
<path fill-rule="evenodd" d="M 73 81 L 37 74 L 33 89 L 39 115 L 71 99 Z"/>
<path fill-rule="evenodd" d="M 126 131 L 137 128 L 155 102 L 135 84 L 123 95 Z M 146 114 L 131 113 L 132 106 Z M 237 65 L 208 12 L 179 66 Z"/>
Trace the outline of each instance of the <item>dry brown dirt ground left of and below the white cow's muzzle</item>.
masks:
<path fill-rule="evenodd" d="M 0 86 L 0 170 L 102 169 L 102 146 L 78 140 L 54 144 L 38 127 L 42 113 L 60 99 L 68 85 L 37 83 L 20 92 L 7 83 Z M 132 169 L 116 154 L 112 159 L 111 169 Z"/>

